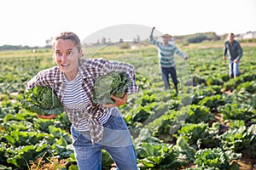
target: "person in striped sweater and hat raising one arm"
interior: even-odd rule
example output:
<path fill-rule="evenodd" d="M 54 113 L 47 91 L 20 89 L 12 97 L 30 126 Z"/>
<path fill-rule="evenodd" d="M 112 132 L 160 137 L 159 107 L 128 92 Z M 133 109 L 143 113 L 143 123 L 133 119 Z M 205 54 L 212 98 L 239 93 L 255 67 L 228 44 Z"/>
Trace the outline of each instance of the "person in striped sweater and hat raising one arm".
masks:
<path fill-rule="evenodd" d="M 176 72 L 176 65 L 174 60 L 174 54 L 178 54 L 183 57 L 183 59 L 188 59 L 188 57 L 183 54 L 175 45 L 174 43 L 170 43 L 169 41 L 172 40 L 172 36 L 165 34 L 161 36 L 163 38 L 163 42 L 157 42 L 154 40 L 153 33 L 155 27 L 152 28 L 150 34 L 150 42 L 154 43 L 158 48 L 158 55 L 160 61 L 160 70 L 162 79 L 164 81 L 164 85 L 166 90 L 170 89 L 170 82 L 169 76 L 172 77 L 172 82 L 174 84 L 174 88 L 176 93 L 178 94 L 177 90 L 177 72 Z"/>

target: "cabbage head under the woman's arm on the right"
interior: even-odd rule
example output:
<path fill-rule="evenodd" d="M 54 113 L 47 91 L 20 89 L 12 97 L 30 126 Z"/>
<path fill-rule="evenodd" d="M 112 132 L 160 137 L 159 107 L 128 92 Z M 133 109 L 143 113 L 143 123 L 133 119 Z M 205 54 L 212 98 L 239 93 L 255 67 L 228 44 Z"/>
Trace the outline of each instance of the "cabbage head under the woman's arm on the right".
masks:
<path fill-rule="evenodd" d="M 113 104 L 111 95 L 122 98 L 126 88 L 131 86 L 131 79 L 125 71 L 110 73 L 98 77 L 94 83 L 93 102 L 97 104 Z"/>

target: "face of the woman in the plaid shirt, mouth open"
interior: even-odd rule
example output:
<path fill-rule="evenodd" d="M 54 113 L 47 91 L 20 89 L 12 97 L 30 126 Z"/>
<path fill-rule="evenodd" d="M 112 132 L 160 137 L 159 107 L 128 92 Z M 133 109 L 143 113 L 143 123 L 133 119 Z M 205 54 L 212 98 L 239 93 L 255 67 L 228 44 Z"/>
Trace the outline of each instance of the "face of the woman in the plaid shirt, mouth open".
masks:
<path fill-rule="evenodd" d="M 79 58 L 82 57 L 81 51 L 71 40 L 59 39 L 54 47 L 55 62 L 60 70 L 67 77 L 68 81 L 73 80 L 79 72 Z"/>

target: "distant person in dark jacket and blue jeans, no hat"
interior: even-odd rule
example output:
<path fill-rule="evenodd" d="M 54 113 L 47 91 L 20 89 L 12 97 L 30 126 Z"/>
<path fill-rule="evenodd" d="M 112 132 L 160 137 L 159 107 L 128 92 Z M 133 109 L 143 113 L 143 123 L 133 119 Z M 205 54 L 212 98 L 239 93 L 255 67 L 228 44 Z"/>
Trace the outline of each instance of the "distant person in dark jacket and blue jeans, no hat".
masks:
<path fill-rule="evenodd" d="M 234 33 L 230 33 L 228 40 L 224 42 L 223 59 L 226 60 L 226 54 L 229 54 L 230 77 L 238 77 L 240 75 L 239 62 L 242 56 L 242 49 L 239 42 L 235 39 Z"/>

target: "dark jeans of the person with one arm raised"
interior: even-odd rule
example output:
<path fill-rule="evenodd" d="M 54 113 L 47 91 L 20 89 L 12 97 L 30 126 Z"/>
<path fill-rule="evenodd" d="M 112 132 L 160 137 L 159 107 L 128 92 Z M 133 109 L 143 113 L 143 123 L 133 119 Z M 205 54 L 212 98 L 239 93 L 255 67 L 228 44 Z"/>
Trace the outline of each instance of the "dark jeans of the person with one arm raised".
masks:
<path fill-rule="evenodd" d="M 172 82 L 175 87 L 177 87 L 177 73 L 176 73 L 176 68 L 175 67 L 168 67 L 164 68 L 161 67 L 161 75 L 162 75 L 162 80 L 164 81 L 164 85 L 166 90 L 170 89 L 170 82 L 169 82 L 169 75 L 172 77 Z"/>

